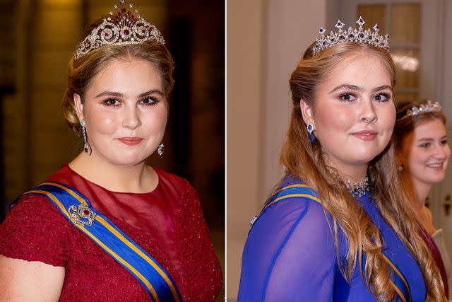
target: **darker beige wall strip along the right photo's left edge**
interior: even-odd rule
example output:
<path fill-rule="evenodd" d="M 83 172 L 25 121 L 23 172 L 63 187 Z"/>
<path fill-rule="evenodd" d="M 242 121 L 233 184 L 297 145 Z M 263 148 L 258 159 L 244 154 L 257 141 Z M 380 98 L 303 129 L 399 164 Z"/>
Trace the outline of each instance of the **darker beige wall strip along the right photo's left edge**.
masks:
<path fill-rule="evenodd" d="M 264 6 L 227 1 L 227 298 L 236 298 L 242 246 L 261 199 Z"/>

